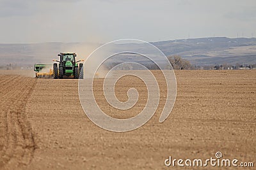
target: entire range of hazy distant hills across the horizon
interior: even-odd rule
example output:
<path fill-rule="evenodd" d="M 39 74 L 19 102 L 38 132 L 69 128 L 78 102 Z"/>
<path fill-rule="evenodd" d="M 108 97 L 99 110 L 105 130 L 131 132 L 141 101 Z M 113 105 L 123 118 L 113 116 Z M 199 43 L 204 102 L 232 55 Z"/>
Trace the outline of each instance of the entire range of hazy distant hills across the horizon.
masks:
<path fill-rule="evenodd" d="M 195 38 L 151 42 L 165 55 L 180 55 L 191 64 L 250 64 L 256 63 L 256 38 Z M 0 66 L 12 63 L 31 66 L 34 63 L 52 63 L 59 52 L 76 52 L 86 57 L 100 44 L 89 43 L 36 43 L 0 44 Z M 115 48 L 140 49 L 140 45 L 116 45 Z M 115 50 L 114 50 L 115 51 Z M 143 52 L 143 50 L 141 51 Z M 150 53 L 150 52 L 145 52 Z"/>

